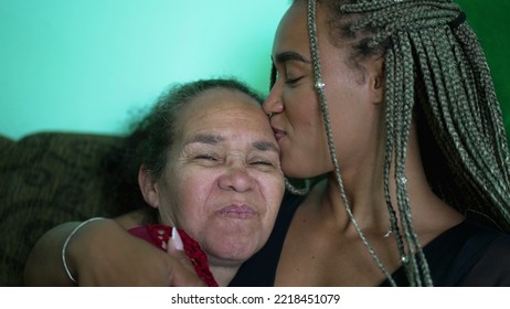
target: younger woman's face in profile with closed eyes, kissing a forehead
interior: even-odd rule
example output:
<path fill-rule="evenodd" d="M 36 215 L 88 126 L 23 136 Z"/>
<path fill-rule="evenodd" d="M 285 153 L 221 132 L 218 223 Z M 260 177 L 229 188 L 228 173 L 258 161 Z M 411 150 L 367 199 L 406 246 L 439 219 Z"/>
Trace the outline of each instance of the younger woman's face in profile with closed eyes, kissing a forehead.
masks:
<path fill-rule="evenodd" d="M 311 62 L 307 1 L 295 2 L 281 19 L 273 45 L 277 79 L 264 103 L 281 149 L 288 177 L 309 178 L 332 171 Z M 322 8 L 317 7 L 320 66 L 331 118 L 337 159 L 342 168 L 355 164 L 370 140 L 373 109 L 366 79 L 349 65 L 349 53 L 331 44 Z"/>

